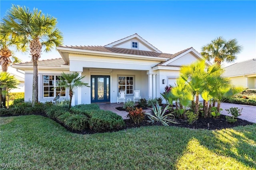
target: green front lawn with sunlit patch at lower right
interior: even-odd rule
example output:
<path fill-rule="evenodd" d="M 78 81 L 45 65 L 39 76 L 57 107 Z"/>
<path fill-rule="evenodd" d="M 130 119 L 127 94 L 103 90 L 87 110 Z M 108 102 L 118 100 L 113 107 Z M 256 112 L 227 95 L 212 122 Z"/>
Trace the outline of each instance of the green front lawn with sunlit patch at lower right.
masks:
<path fill-rule="evenodd" d="M 256 169 L 256 124 L 219 131 L 151 126 L 73 134 L 39 115 L 1 117 L 2 163 L 27 169 Z"/>

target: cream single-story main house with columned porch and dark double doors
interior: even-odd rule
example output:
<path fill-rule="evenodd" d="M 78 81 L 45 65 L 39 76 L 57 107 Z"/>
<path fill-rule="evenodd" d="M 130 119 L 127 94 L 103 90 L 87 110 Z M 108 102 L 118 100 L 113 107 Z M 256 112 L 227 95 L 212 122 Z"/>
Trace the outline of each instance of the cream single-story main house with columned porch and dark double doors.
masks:
<path fill-rule="evenodd" d="M 175 54 L 162 53 L 138 34 L 105 46 L 59 46 L 60 59 L 38 62 L 38 100 L 53 100 L 58 93 L 68 99 L 64 88 L 54 88 L 62 72 L 79 72 L 90 88 L 78 88 L 74 104 L 117 102 L 120 90 L 133 99 L 134 90 L 141 98 L 161 97 L 166 85 L 174 85 L 182 64 L 202 56 L 192 47 Z M 208 64 L 210 64 L 207 61 Z M 33 63 L 13 64 L 25 72 L 25 100 L 32 99 Z"/>

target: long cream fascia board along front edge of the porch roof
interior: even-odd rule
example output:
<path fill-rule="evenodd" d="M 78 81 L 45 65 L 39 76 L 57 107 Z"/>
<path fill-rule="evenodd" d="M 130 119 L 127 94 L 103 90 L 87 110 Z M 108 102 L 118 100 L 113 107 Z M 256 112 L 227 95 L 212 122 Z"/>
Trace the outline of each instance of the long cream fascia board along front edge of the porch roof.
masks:
<path fill-rule="evenodd" d="M 83 50 L 83 49 L 72 49 L 66 47 L 57 47 L 60 52 L 67 53 L 81 53 L 86 55 L 102 55 L 104 57 L 117 57 L 117 58 L 127 58 L 127 59 L 141 59 L 141 60 L 151 60 L 151 61 L 166 61 L 169 58 L 164 57 L 151 57 L 151 56 L 143 56 L 143 55 L 131 55 L 131 54 L 122 54 L 119 53 L 110 53 L 104 51 L 92 51 L 92 50 Z"/>

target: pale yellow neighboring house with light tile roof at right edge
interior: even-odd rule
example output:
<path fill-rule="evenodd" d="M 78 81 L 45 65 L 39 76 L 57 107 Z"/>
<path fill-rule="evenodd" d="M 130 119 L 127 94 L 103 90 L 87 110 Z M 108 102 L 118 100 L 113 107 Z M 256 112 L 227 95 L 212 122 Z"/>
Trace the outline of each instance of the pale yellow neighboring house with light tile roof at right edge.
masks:
<path fill-rule="evenodd" d="M 256 58 L 232 64 L 224 68 L 224 76 L 236 86 L 256 88 Z"/>

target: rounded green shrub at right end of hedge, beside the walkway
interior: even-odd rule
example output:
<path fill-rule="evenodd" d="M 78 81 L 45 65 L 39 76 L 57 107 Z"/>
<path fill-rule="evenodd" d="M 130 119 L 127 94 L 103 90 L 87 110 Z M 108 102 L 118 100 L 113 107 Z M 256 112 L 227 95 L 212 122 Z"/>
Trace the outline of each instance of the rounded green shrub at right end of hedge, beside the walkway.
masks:
<path fill-rule="evenodd" d="M 94 131 L 120 129 L 124 127 L 124 120 L 120 115 L 112 111 L 98 110 L 98 112 L 92 114 L 89 120 L 89 127 Z"/>

